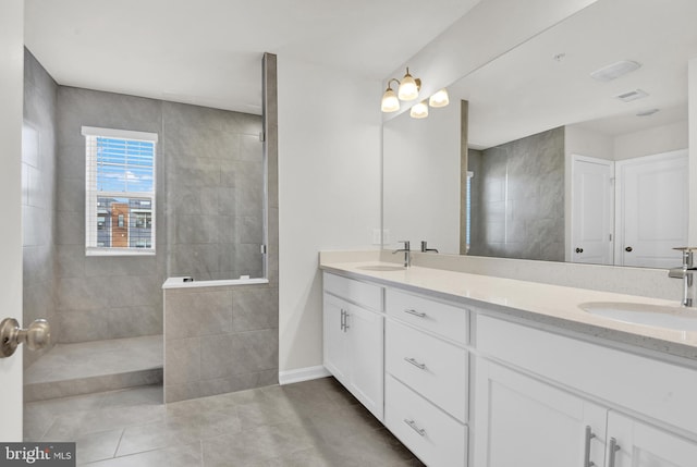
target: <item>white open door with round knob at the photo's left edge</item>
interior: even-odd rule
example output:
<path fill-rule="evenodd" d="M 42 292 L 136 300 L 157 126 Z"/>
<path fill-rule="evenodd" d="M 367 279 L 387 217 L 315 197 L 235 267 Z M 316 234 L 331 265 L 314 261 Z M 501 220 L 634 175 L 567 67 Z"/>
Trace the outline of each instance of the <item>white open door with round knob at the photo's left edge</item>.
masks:
<path fill-rule="evenodd" d="M 0 2 L 0 320 L 22 320 L 22 101 L 24 2 Z M 22 352 L 0 358 L 0 441 L 22 441 Z"/>

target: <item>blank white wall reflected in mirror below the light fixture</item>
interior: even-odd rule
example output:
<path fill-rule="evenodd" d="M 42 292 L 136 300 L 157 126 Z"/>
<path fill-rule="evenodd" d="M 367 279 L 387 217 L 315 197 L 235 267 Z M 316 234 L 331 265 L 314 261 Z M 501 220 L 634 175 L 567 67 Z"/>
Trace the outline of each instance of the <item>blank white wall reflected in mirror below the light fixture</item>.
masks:
<path fill-rule="evenodd" d="M 383 228 L 387 243 L 427 241 L 440 253 L 460 253 L 461 106 L 430 109 L 424 120 L 408 113 L 386 122 Z"/>

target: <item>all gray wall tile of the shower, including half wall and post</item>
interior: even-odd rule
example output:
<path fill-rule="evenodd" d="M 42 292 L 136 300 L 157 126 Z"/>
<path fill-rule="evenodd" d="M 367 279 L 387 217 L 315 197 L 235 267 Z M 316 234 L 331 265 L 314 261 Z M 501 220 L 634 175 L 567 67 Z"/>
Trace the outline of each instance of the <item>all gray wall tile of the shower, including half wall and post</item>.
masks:
<path fill-rule="evenodd" d="M 57 86 L 32 60 L 27 57 L 25 108 L 37 113 L 29 120 L 38 128 L 39 144 L 38 152 L 36 145 L 27 146 L 33 149 L 23 172 L 29 228 L 26 316 L 53 308 L 56 329 L 65 330 L 60 342 L 156 334 L 164 318 L 168 401 L 276 383 L 276 116 L 267 124 L 265 145 L 258 115 Z M 270 70 L 267 85 L 274 89 L 274 67 Z M 273 110 L 276 93 L 268 95 Z M 159 134 L 157 256 L 85 256 L 83 125 Z M 272 206 L 268 212 L 262 211 L 265 170 Z M 160 285 L 168 275 L 261 275 L 265 214 L 271 285 L 169 291 L 162 312 Z"/>

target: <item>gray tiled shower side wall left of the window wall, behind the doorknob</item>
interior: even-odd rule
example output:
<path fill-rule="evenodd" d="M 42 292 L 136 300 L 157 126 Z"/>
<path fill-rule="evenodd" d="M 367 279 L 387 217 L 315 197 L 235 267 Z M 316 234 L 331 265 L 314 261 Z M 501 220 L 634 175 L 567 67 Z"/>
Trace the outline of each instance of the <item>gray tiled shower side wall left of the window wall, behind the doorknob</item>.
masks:
<path fill-rule="evenodd" d="M 60 336 L 56 320 L 56 107 L 58 85 L 39 62 L 24 53 L 24 127 L 22 134 L 22 218 L 24 312 L 27 325 L 37 318 L 51 324 L 53 341 Z M 20 317 L 17 317 L 20 318 Z M 42 351 L 46 352 L 46 351 Z M 24 353 L 24 367 L 41 355 Z"/>

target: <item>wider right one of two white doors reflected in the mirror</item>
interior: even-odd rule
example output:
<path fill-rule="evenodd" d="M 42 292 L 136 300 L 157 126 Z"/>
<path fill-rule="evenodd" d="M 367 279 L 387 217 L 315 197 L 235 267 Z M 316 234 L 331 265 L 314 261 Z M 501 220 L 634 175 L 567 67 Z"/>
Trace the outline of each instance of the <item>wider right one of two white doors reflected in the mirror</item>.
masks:
<path fill-rule="evenodd" d="M 687 150 L 617 161 L 619 266 L 673 268 L 687 245 Z"/>

